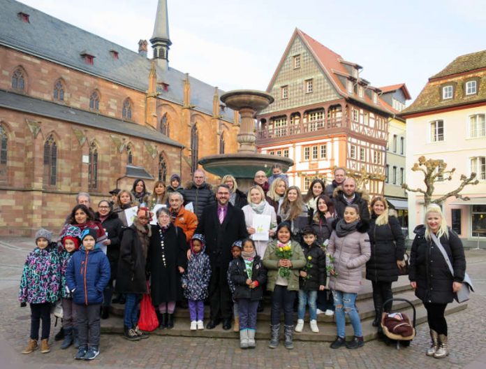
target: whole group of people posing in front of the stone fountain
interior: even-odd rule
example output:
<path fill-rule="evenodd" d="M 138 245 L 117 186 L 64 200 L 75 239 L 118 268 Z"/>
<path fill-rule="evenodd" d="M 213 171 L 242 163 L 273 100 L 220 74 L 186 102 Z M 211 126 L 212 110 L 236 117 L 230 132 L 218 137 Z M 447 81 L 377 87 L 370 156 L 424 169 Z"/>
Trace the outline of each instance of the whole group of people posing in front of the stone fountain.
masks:
<path fill-rule="evenodd" d="M 175 174 L 168 185 L 156 182 L 152 194 L 141 179 L 131 191 L 110 194 L 111 201 L 100 201 L 97 212 L 89 194 L 78 194 L 57 243 L 45 229 L 36 234 L 19 294 L 23 305 L 31 305 L 25 354 L 38 347 L 40 321 L 40 349 L 49 352 L 50 306 L 61 301 L 61 348 L 74 343 L 75 359 L 94 359 L 100 317 L 109 316 L 115 291 L 116 301 L 125 304 L 127 340 L 148 338 L 138 328 L 138 310 L 142 295 L 150 294 L 160 328 L 174 326 L 176 304 L 186 301 L 190 330 L 221 323 L 229 330 L 233 324 L 243 349 L 256 347 L 256 319 L 265 294 L 271 295 L 272 305 L 269 347 L 279 345 L 283 312 L 284 345 L 293 348 L 293 333 L 302 332 L 307 305 L 312 332 L 318 333 L 318 313 L 334 314 L 337 338 L 332 349 L 362 347 L 356 298 L 364 265 L 373 287 L 373 325 L 380 323 L 382 311 L 392 308 L 384 303 L 392 298 L 392 282 L 405 266 L 402 229 L 386 199 L 377 196 L 368 203 L 344 168 L 334 170 L 327 186 L 323 180 L 312 181 L 304 196 L 299 187 L 288 185 L 279 166 L 269 178 L 258 171 L 246 194 L 232 175 L 225 175 L 213 190 L 201 170 L 185 188 Z M 156 224 L 149 224 L 158 204 L 163 207 L 156 211 Z M 137 215 L 127 219 L 125 210 L 134 205 Z M 253 239 L 258 215 L 270 218 L 267 240 Z M 445 305 L 461 287 L 464 250 L 439 207 L 427 209 L 425 224 L 415 233 L 409 278 L 427 309 L 432 338 L 427 355 L 441 358 L 448 354 Z M 434 247 L 437 243 L 452 261 L 454 276 Z M 206 326 L 205 301 L 210 307 Z M 354 331 L 348 341 L 346 315 Z"/>

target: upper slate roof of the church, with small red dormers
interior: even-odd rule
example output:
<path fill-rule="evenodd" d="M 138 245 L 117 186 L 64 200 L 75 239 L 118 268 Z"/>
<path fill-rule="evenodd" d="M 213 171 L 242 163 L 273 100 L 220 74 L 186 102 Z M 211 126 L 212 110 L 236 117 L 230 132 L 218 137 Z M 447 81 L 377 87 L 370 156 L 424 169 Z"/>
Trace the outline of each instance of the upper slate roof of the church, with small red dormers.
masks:
<path fill-rule="evenodd" d="M 0 45 L 147 91 L 150 71 L 147 57 L 18 1 L 1 0 L 0 6 Z M 29 15 L 29 23 L 20 20 L 17 15 L 20 12 Z M 80 55 L 83 50 L 94 55 L 93 65 L 84 62 Z M 118 59 L 112 57 L 110 50 L 119 53 Z M 168 71 L 156 66 L 156 73 L 157 80 L 169 85 L 167 92 L 158 87 L 160 98 L 182 105 L 186 75 L 170 66 Z M 191 105 L 196 106 L 195 110 L 212 115 L 214 87 L 191 76 L 189 80 Z M 224 91 L 220 90 L 219 94 L 221 96 Z M 233 110 L 226 108 L 221 115 L 222 119 L 233 122 Z"/>

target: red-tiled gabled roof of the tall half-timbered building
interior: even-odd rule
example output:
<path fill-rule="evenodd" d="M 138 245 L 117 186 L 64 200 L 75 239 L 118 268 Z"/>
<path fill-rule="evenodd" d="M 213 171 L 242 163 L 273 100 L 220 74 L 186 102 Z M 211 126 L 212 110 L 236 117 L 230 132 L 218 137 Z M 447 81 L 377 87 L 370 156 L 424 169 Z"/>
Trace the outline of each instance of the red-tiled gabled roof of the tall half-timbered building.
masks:
<path fill-rule="evenodd" d="M 367 96 L 367 94 L 364 94 L 363 98 L 355 96 L 354 94 L 349 94 L 346 89 L 346 85 L 343 85 L 338 76 L 356 80 L 353 75 L 349 74 L 345 64 L 355 66 L 356 68 L 362 68 L 362 66 L 351 61 L 346 61 L 343 57 L 341 57 L 341 55 L 337 54 L 337 52 L 334 52 L 330 50 L 330 48 L 325 47 L 323 44 L 319 43 L 314 38 L 312 38 L 308 34 L 305 34 L 298 28 L 295 29 L 292 37 L 290 37 L 290 41 L 288 42 L 286 50 L 285 52 L 283 52 L 283 55 L 279 61 L 279 65 L 274 71 L 274 75 L 272 76 L 272 79 L 270 80 L 270 83 L 267 87 L 267 92 L 270 92 L 270 90 L 272 89 L 272 86 L 277 78 L 277 75 L 279 74 L 283 61 L 285 61 L 286 56 L 288 55 L 288 51 L 290 50 L 290 47 L 292 46 L 296 37 L 299 37 L 304 45 L 306 45 L 307 49 L 314 57 L 317 64 L 330 80 L 339 95 L 343 96 L 345 99 L 352 99 L 354 101 L 358 101 L 359 103 L 364 103 L 367 106 L 382 110 L 383 112 L 388 114 L 397 113 L 397 110 L 393 109 L 390 105 L 388 105 L 388 103 L 386 103 L 379 97 L 378 103 L 376 104 L 373 102 L 372 99 L 369 98 L 369 96 Z M 360 78 L 358 78 L 358 80 L 360 80 Z M 366 82 L 366 84 L 369 83 L 367 80 L 364 80 L 364 82 Z M 370 89 L 374 89 L 374 87 L 370 86 Z"/>

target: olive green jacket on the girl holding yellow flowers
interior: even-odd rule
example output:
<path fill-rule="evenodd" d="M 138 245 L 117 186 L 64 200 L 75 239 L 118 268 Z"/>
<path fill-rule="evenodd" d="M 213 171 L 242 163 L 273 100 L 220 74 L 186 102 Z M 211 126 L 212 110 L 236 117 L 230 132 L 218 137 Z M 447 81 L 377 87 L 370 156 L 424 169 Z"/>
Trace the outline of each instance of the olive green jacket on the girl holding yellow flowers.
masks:
<path fill-rule="evenodd" d="M 263 265 L 267 268 L 267 290 L 273 291 L 275 289 L 275 282 L 277 282 L 277 276 L 279 275 L 279 256 L 275 254 L 278 240 L 272 240 L 268 243 L 265 250 L 265 256 L 263 256 Z M 299 270 L 305 266 L 305 256 L 302 252 L 302 247 L 294 240 L 290 241 L 290 247 L 292 247 L 292 267 L 290 268 L 290 275 L 288 276 L 288 291 L 299 290 Z"/>

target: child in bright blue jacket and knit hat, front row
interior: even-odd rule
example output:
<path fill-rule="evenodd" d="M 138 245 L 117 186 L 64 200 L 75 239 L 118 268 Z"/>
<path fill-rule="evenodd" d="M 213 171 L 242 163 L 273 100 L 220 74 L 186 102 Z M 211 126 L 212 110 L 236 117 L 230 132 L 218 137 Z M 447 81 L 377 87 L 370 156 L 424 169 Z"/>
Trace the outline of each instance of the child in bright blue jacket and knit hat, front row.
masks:
<path fill-rule="evenodd" d="M 96 244 L 95 229 L 84 229 L 81 242 L 66 269 L 66 282 L 75 303 L 80 342 L 74 359 L 93 360 L 100 353 L 100 307 L 110 280 L 110 262 Z"/>

